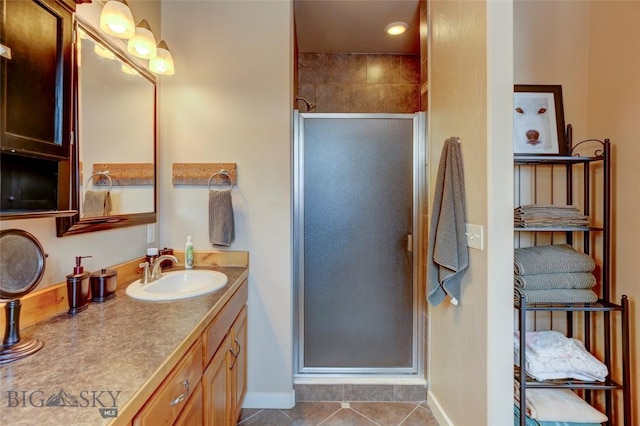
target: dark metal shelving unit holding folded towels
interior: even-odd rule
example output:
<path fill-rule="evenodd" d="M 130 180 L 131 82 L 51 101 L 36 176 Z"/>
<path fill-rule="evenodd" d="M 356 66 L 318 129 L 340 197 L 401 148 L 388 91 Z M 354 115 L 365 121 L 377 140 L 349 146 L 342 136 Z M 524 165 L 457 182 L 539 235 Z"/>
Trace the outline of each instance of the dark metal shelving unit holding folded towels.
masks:
<path fill-rule="evenodd" d="M 585 147 L 592 149 L 593 155 L 583 156 L 579 152 L 584 150 Z M 595 146 L 595 148 L 593 148 Z M 578 303 L 578 304 L 560 304 L 560 303 L 527 303 L 525 293 L 519 288 L 514 288 L 514 307 L 518 313 L 518 330 L 520 330 L 520 363 L 525 363 L 526 360 L 526 345 L 525 345 L 525 332 L 527 330 L 527 317 L 528 313 L 540 313 L 548 312 L 551 315 L 553 312 L 565 312 L 566 313 L 566 330 L 567 337 L 572 337 L 574 331 L 581 331 L 584 338 L 585 348 L 589 351 L 595 349 L 594 340 L 598 340 L 596 337 L 601 338 L 602 351 L 604 360 L 602 361 L 609 374 L 604 382 L 597 381 L 581 381 L 581 380 L 550 380 L 550 381 L 535 381 L 528 378 L 524 368 L 515 367 L 515 378 L 520 387 L 520 425 L 526 424 L 526 390 L 527 388 L 569 388 L 569 389 L 581 389 L 584 393 L 584 399 L 588 403 L 594 402 L 596 392 L 604 392 L 604 406 L 605 414 L 609 418 L 607 425 L 612 425 L 612 418 L 614 413 L 613 404 L 613 392 L 622 392 L 622 416 L 623 423 L 617 422 L 616 424 L 623 424 L 624 426 L 631 425 L 631 391 L 630 391 L 630 372 L 629 372 L 629 301 L 626 295 L 623 295 L 620 299 L 620 303 L 614 303 L 611 300 L 611 163 L 610 163 L 611 146 L 610 141 L 605 139 L 604 141 L 589 139 L 576 144 L 571 149 L 571 155 L 538 155 L 538 156 L 516 156 L 514 164 L 517 170 L 520 172 L 523 169 L 528 169 L 530 175 L 533 176 L 530 181 L 531 187 L 534 191 L 534 198 L 537 197 L 538 188 L 538 174 L 540 173 L 539 167 L 560 168 L 561 172 L 556 173 L 553 170 L 549 172 L 553 175 L 553 178 L 542 179 L 545 188 L 541 188 L 541 191 L 553 191 L 553 188 L 557 188 L 558 185 L 551 182 L 554 178 L 561 176 L 564 179 L 565 191 L 566 191 L 566 204 L 571 205 L 574 203 L 574 184 L 579 184 L 582 187 L 581 194 L 581 211 L 582 214 L 590 216 L 591 209 L 596 204 L 598 208 L 602 209 L 601 223 L 598 226 L 593 227 L 553 227 L 553 228 L 514 228 L 516 235 L 522 235 L 522 233 L 529 233 L 535 240 L 536 236 L 540 233 L 552 235 L 561 235 L 562 238 L 570 245 L 578 245 L 581 251 L 589 254 L 593 257 L 595 254 L 593 251 L 598 250 L 598 255 L 601 259 L 600 279 L 599 282 L 599 294 L 598 301 L 595 303 Z M 598 173 L 595 173 L 595 168 L 601 168 Z M 564 171 L 564 173 L 562 172 Z M 595 182 L 595 175 L 598 174 L 600 182 Z M 601 176 L 600 176 L 601 175 Z M 574 182 L 574 178 L 580 176 L 580 181 Z M 517 185 L 522 185 L 522 182 L 516 179 Z M 602 196 L 598 199 L 592 196 L 594 188 L 601 184 Z M 518 189 L 518 188 L 517 188 Z M 553 198 L 553 196 L 552 196 Z M 564 201 L 564 200 L 563 200 Z M 595 208 L 594 208 L 595 210 Z M 599 248 L 594 248 L 595 244 L 592 244 L 592 237 L 598 234 L 598 238 L 601 238 Z M 536 245 L 536 244 L 534 244 Z M 619 315 L 619 330 L 613 330 L 612 315 Z M 595 327 L 597 317 L 602 316 L 603 326 L 601 335 L 598 335 L 600 331 Z M 617 327 L 616 327 L 617 328 Z M 620 380 L 613 380 L 612 376 L 612 337 L 614 333 L 619 333 L 617 336 L 621 343 L 621 353 L 617 354 L 619 362 L 621 364 L 622 377 Z"/>

